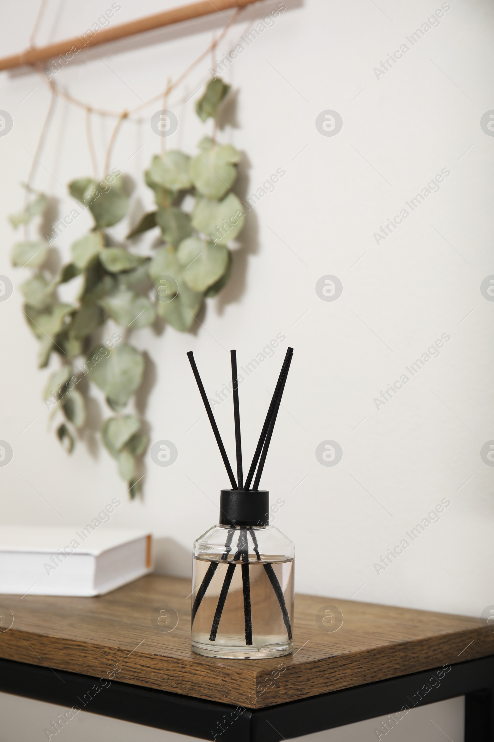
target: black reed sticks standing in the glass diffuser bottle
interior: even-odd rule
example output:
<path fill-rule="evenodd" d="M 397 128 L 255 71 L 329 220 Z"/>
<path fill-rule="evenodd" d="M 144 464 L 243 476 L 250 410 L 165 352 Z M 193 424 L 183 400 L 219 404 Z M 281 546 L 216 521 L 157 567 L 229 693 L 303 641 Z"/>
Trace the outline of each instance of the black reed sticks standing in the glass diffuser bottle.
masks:
<path fill-rule="evenodd" d="M 218 448 L 221 453 L 221 458 L 223 459 L 224 466 L 227 470 L 227 474 L 230 479 L 230 483 L 232 485 L 233 491 L 236 491 L 238 495 L 241 495 L 241 499 L 253 497 L 253 493 L 254 492 L 257 493 L 259 491 L 259 482 L 261 479 L 261 474 L 264 469 L 264 464 L 266 462 L 266 457 L 267 457 L 267 451 L 270 447 L 271 438 L 273 436 L 273 430 L 274 430 L 274 426 L 276 423 L 276 417 L 278 416 L 278 410 L 281 404 L 281 397 L 284 392 L 284 386 L 287 381 L 288 371 L 290 370 L 290 364 L 291 364 L 292 356 L 293 356 L 293 348 L 289 347 L 284 357 L 283 365 L 281 366 L 281 371 L 278 376 L 276 388 L 273 393 L 273 397 L 271 398 L 270 407 L 267 410 L 267 416 L 262 426 L 261 435 L 259 436 L 258 444 L 256 446 L 256 451 L 254 453 L 252 463 L 250 464 L 250 469 L 247 474 L 247 479 L 245 480 L 245 483 L 244 483 L 244 475 L 243 475 L 243 468 L 242 468 L 240 408 L 239 408 L 239 403 L 238 403 L 238 373 L 237 373 L 236 350 L 231 350 L 230 356 L 231 356 L 231 364 L 232 364 L 233 416 L 234 416 L 234 421 L 235 421 L 237 479 L 235 479 L 232 467 L 230 466 L 227 452 L 224 448 L 224 444 L 223 444 L 223 441 L 221 440 L 221 436 L 218 430 L 218 426 L 216 424 L 216 420 L 213 416 L 213 410 L 211 410 L 211 406 L 207 398 L 207 394 L 204 390 L 204 385 L 202 384 L 201 377 L 199 375 L 199 372 L 196 366 L 196 361 L 194 360 L 193 352 L 192 351 L 188 352 L 187 356 L 189 358 L 190 366 L 192 367 L 193 374 L 196 378 L 199 393 L 201 394 L 202 401 L 204 402 L 204 407 L 206 408 L 207 416 L 210 420 L 211 427 L 213 428 L 213 433 L 216 438 L 216 442 L 218 444 Z M 256 471 L 256 467 L 257 467 L 257 471 Z M 250 485 L 253 480 L 254 480 L 253 486 L 252 486 L 252 489 L 250 489 Z M 227 490 L 222 490 L 222 494 L 223 492 L 227 492 Z M 220 522 L 224 524 L 228 524 L 230 522 L 229 513 L 224 513 L 224 512 L 221 513 Z M 233 523 L 235 523 L 235 521 L 233 521 Z M 225 540 L 224 552 L 221 555 L 221 560 L 224 562 L 228 562 L 228 567 L 227 567 L 227 571 L 224 577 L 223 585 L 221 587 L 221 592 L 218 598 L 218 605 L 216 606 L 216 611 L 215 611 L 214 618 L 213 618 L 213 626 L 211 626 L 210 641 L 216 640 L 216 634 L 218 632 L 218 626 L 221 620 L 221 614 L 223 612 L 224 604 L 227 600 L 227 594 L 228 594 L 228 590 L 230 588 L 230 584 L 233 579 L 233 573 L 236 567 L 240 565 L 241 566 L 241 577 L 242 577 L 242 590 L 244 594 L 245 643 L 247 646 L 252 646 L 253 644 L 252 611 L 251 611 L 251 605 L 250 605 L 249 545 L 248 545 L 247 536 L 250 536 L 250 538 L 252 539 L 253 551 L 256 554 L 256 559 L 259 562 L 261 561 L 261 554 L 259 554 L 258 542 L 256 539 L 256 533 L 253 530 L 253 525 L 254 525 L 253 523 L 246 522 L 244 525 L 233 525 L 232 528 L 228 528 L 227 530 L 227 538 Z M 233 537 L 236 535 L 236 533 L 238 533 L 236 552 L 233 554 L 233 558 L 229 559 L 229 554 L 233 550 L 232 548 Z M 278 577 L 276 577 L 275 571 L 273 570 L 273 565 L 270 564 L 270 562 L 263 562 L 263 567 L 264 567 L 264 570 L 266 571 L 268 579 L 270 580 L 270 584 L 273 587 L 273 591 L 276 594 L 276 598 L 278 600 L 278 603 L 281 608 L 281 613 L 283 615 L 284 626 L 287 629 L 288 639 L 291 640 L 292 639 L 292 628 L 290 626 L 290 616 L 288 614 L 287 606 L 285 604 L 283 590 L 278 581 Z M 194 622 L 199 605 L 201 605 L 201 601 L 207 592 L 207 588 L 209 587 L 211 580 L 213 580 L 213 576 L 217 568 L 218 568 L 218 562 L 210 562 L 210 565 L 207 568 L 206 574 L 204 575 L 201 585 L 199 585 L 196 598 L 193 603 L 193 608 L 192 608 L 192 623 Z"/>

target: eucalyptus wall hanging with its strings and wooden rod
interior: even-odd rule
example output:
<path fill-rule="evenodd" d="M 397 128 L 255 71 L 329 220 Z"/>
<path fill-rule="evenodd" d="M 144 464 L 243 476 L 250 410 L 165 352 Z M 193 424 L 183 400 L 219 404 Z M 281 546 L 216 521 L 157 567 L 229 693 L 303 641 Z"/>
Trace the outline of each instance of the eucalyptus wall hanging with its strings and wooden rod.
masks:
<path fill-rule="evenodd" d="M 160 93 L 132 110 L 98 108 L 77 99 L 57 82 L 46 60 L 50 53 L 53 56 L 54 47 L 65 48 L 70 43 L 74 47 L 76 40 L 44 49 L 34 46 L 44 3 L 31 37 L 31 49 L 10 61 L 0 60 L 0 68 L 36 63 L 36 71 L 51 93 L 50 108 L 24 184 L 24 208 L 9 217 L 14 229 L 24 231 L 13 246 L 12 262 L 30 273 L 20 288 L 27 324 L 39 340 L 39 367 L 48 364 L 56 367 L 44 389 L 44 400 L 50 409 L 50 418 L 58 418 L 56 435 L 71 452 L 76 439 L 84 437 L 90 384 L 99 387 L 112 413 L 101 425 L 101 439 L 116 459 L 131 498 L 141 491 L 142 456 L 147 449 L 148 436 L 143 430 L 144 421 L 127 411 L 127 404 L 141 386 L 144 373 L 144 355 L 130 343 L 130 335 L 134 329 L 155 323 L 168 323 L 182 332 L 192 329 L 198 322 L 197 315 L 205 299 L 216 296 L 227 283 L 232 265 L 229 248 L 244 226 L 244 208 L 232 191 L 241 154 L 232 145 L 218 141 L 216 126 L 218 110 L 230 85 L 213 76 L 202 93 L 198 93 L 195 108 L 204 122 L 204 137 L 198 142 L 195 156 L 165 150 L 166 139 L 161 137 L 161 151 L 153 157 L 143 177 L 145 185 L 154 192 L 156 209 L 144 214 L 133 225 L 124 243 L 116 240 L 110 231 L 127 216 L 129 209 L 123 173 L 118 163 L 112 167 L 112 151 L 122 126 L 142 120 L 139 116 L 148 106 L 162 101 L 162 110 L 167 111 L 170 94 L 201 60 L 215 52 L 241 12 L 241 6 L 252 1 L 221 0 L 214 7 L 210 3 L 198 3 L 153 16 L 155 23 L 159 18 L 158 25 L 164 25 L 174 22 L 173 18 L 193 17 L 190 9 L 196 9 L 198 16 L 237 7 L 218 38 L 184 73 L 174 81 L 168 79 Z M 181 16 L 177 18 L 178 11 Z M 173 13 L 175 16 L 170 19 Z M 149 20 L 142 19 L 142 22 Z M 156 27 L 149 23 L 143 27 L 142 22 L 138 30 Z M 128 30 L 136 24 L 139 22 L 116 27 L 111 38 L 136 33 L 136 30 L 120 36 L 116 33 L 118 29 L 127 27 Z M 101 36 L 95 39 L 90 45 L 101 42 Z M 81 39 L 79 47 L 80 42 Z M 79 108 L 85 116 L 88 160 L 93 176 L 79 175 L 68 184 L 68 190 L 79 205 L 76 209 L 74 203 L 74 209 L 78 214 L 81 209 L 88 209 L 93 225 L 87 234 L 80 234 L 73 242 L 70 260 L 54 271 L 50 252 L 56 243 L 57 229 L 53 221 L 49 223 L 53 199 L 36 189 L 36 174 L 59 98 Z M 95 116 L 115 120 L 101 169 L 92 135 Z M 160 116 L 158 125 L 161 128 L 170 126 L 170 116 Z M 187 198 L 184 203 L 186 196 L 193 199 Z M 135 252 L 138 236 L 151 229 L 160 235 L 158 245 L 149 255 Z M 60 301 L 57 289 L 76 277 L 81 277 L 76 301 Z M 105 329 L 109 320 L 119 325 L 121 332 Z"/>

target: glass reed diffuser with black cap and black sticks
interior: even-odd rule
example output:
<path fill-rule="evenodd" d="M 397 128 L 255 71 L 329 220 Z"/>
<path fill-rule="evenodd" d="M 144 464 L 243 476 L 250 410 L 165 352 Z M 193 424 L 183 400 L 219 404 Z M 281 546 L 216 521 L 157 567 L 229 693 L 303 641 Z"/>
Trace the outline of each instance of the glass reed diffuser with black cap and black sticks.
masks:
<path fill-rule="evenodd" d="M 187 353 L 232 485 L 221 490 L 218 525 L 199 536 L 193 545 L 192 649 L 208 657 L 281 657 L 290 654 L 293 647 L 295 546 L 278 528 L 269 525 L 270 493 L 260 490 L 259 482 L 293 348 L 287 349 L 245 483 L 236 351 L 230 351 L 230 355 L 237 479 L 193 352 Z"/>

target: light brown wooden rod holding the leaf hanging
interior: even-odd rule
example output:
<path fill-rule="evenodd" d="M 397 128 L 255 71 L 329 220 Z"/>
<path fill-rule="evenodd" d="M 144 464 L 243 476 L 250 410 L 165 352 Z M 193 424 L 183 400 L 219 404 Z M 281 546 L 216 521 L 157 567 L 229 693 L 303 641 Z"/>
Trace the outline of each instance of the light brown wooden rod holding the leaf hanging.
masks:
<path fill-rule="evenodd" d="M 105 28 L 98 32 L 90 30 L 90 33 L 86 32 L 81 36 L 76 36 L 75 39 L 67 39 L 64 42 L 57 42 L 45 47 L 33 47 L 20 54 L 6 56 L 0 59 L 0 70 L 12 70 L 23 65 L 35 65 L 36 62 L 46 62 L 47 59 L 54 59 L 56 56 L 67 52 L 77 53 L 85 48 L 113 42 L 116 39 L 125 39 L 127 36 L 134 36 L 136 33 L 144 33 L 144 31 L 150 31 L 154 28 L 208 16 L 220 10 L 245 7 L 255 2 L 258 2 L 258 0 L 215 0 L 213 4 L 209 0 L 205 0 L 190 5 L 182 5 L 172 10 L 165 10 L 164 13 L 156 13 L 154 16 L 146 16 L 146 18 L 136 21 L 122 23 L 114 28 Z"/>

